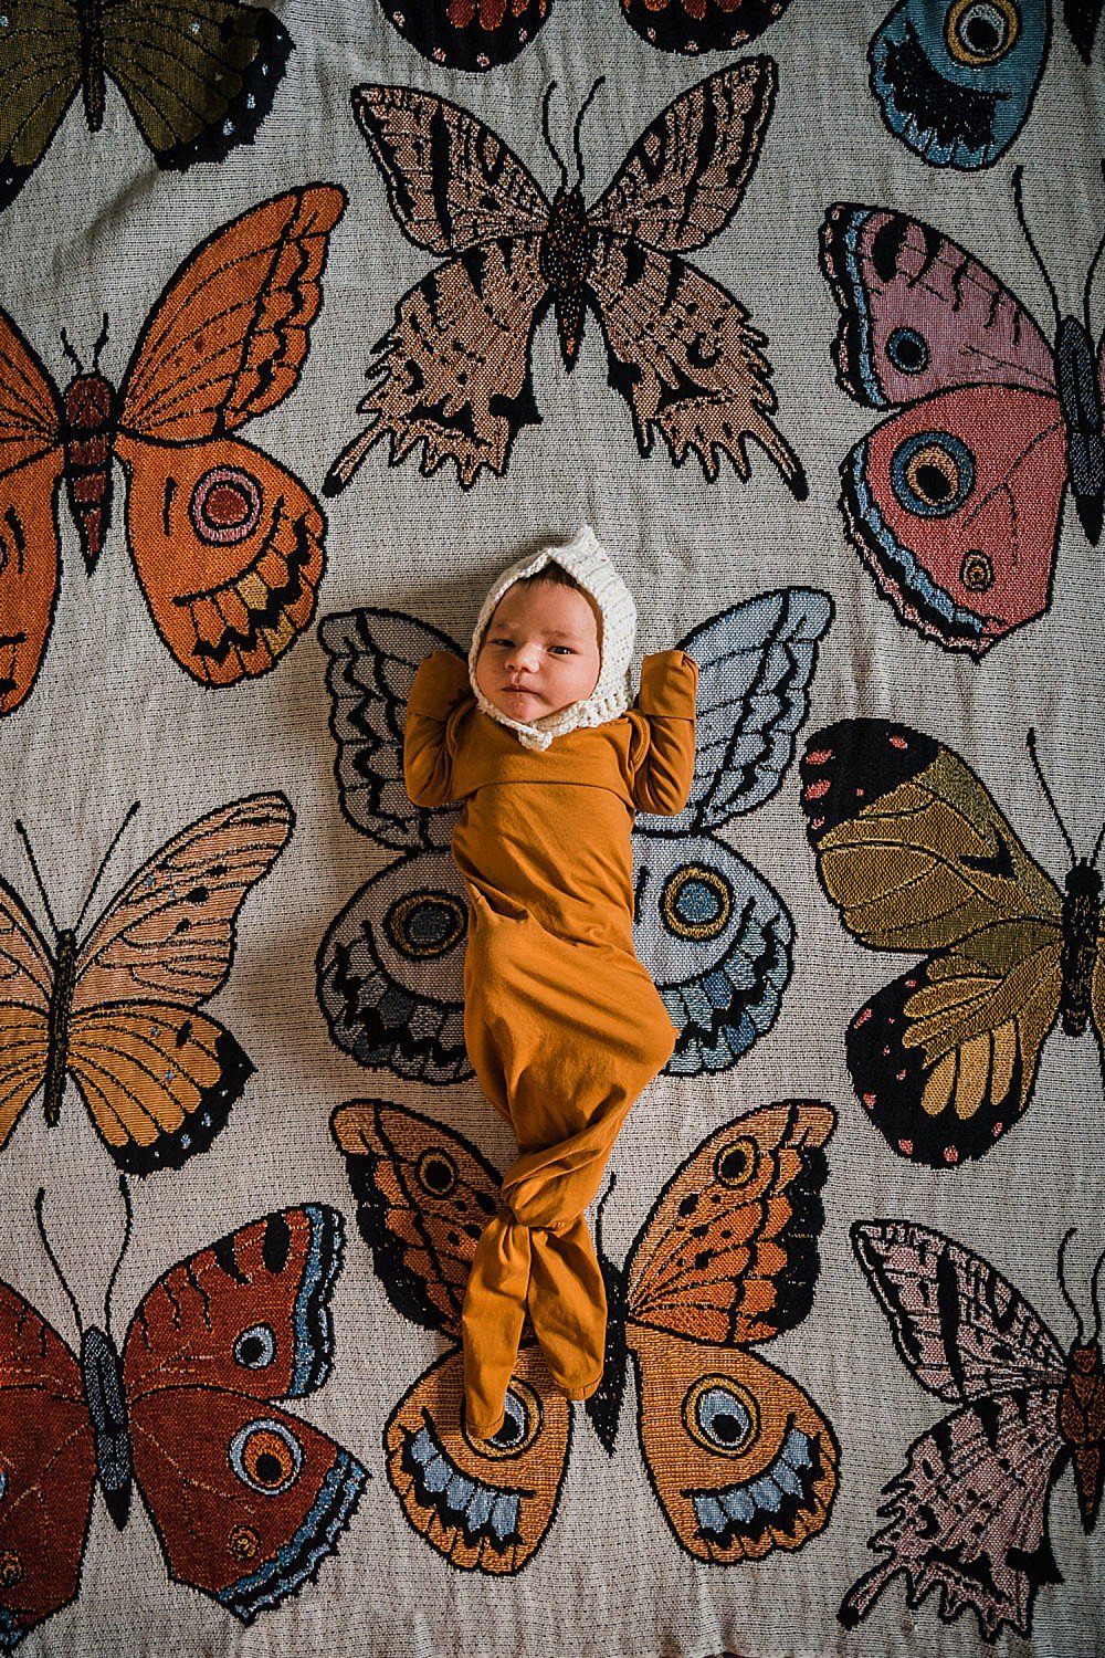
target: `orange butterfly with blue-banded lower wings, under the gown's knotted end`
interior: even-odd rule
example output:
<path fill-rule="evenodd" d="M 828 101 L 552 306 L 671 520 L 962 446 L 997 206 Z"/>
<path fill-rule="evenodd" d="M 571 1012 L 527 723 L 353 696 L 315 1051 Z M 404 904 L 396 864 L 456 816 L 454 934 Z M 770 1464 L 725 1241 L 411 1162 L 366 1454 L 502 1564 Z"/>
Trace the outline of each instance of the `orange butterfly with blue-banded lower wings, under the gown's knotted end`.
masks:
<path fill-rule="evenodd" d="M 663 1189 L 623 1268 L 600 1244 L 606 1371 L 586 1416 L 613 1451 L 631 1355 L 651 1487 L 676 1542 L 712 1565 L 800 1549 L 828 1522 L 833 1429 L 749 1348 L 810 1310 L 833 1126 L 832 1109 L 808 1101 L 727 1122 Z M 499 1176 L 461 1134 L 403 1106 L 351 1101 L 331 1129 L 389 1302 L 457 1341 Z M 572 1444 L 568 1401 L 528 1323 L 495 1437 L 470 1437 L 462 1406 L 462 1355 L 451 1346 L 391 1413 L 388 1479 L 451 1565 L 510 1575 L 552 1527 Z"/>

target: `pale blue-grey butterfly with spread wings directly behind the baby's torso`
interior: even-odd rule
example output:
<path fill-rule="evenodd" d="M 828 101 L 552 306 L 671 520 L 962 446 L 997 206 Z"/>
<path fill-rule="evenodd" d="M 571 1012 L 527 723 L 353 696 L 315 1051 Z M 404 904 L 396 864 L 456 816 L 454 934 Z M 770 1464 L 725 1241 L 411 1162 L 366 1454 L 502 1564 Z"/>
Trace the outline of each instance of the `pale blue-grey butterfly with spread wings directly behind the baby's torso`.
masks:
<path fill-rule="evenodd" d="M 697 758 L 678 817 L 636 819 L 635 945 L 679 1031 L 668 1073 L 724 1071 L 775 1020 L 794 925 L 777 892 L 717 837 L 770 799 L 794 759 L 827 594 L 792 587 L 721 612 L 681 642 L 699 663 Z M 366 1066 L 447 1084 L 464 1051 L 467 899 L 447 847 L 459 807 L 413 806 L 403 718 L 437 628 L 394 610 L 326 617 L 335 774 L 350 822 L 404 856 L 373 875 L 318 952 L 318 1000 L 340 1048 Z"/>

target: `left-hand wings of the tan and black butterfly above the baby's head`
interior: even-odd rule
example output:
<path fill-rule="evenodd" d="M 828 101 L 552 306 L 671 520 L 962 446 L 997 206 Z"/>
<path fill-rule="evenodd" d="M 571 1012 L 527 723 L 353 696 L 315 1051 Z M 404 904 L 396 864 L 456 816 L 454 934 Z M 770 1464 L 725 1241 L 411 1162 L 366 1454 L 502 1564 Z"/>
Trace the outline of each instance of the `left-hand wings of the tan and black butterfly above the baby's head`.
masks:
<path fill-rule="evenodd" d="M 353 113 L 403 234 L 449 260 L 396 305 L 358 405 L 369 424 L 330 468 L 325 494 L 345 489 L 383 438 L 393 466 L 422 444 L 424 476 L 456 461 L 469 489 L 485 466 L 502 474 L 519 431 L 540 419 L 530 345 L 550 302 L 548 202 L 502 139 L 444 98 L 358 86 Z"/>

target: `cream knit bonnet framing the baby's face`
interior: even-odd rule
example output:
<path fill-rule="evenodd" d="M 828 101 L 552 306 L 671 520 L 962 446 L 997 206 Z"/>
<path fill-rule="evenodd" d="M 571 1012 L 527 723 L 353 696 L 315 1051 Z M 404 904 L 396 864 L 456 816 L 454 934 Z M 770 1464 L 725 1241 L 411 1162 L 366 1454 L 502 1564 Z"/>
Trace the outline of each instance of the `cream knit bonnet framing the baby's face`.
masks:
<path fill-rule="evenodd" d="M 580 587 L 598 605 L 603 618 L 601 665 L 598 683 L 588 698 L 580 703 L 568 703 L 567 708 L 562 708 L 555 715 L 545 715 L 543 720 L 537 720 L 533 725 L 524 725 L 487 701 L 475 683 L 475 658 L 479 657 L 487 623 L 507 589 L 514 587 L 524 575 L 537 575 L 547 564 L 560 564 L 570 575 L 575 575 Z M 542 547 L 540 552 L 530 554 L 528 559 L 519 559 L 517 564 L 512 564 L 492 584 L 472 633 L 472 648 L 469 652 L 472 693 L 485 715 L 517 733 L 519 743 L 524 748 L 548 748 L 552 739 L 563 736 L 565 731 L 577 731 L 580 726 L 605 725 L 608 720 L 616 720 L 618 715 L 626 711 L 633 701 L 630 691 L 630 662 L 633 658 L 635 638 L 636 605 L 633 604 L 633 594 L 598 545 L 591 526 L 585 524 L 575 541 L 567 542 L 563 547 Z"/>

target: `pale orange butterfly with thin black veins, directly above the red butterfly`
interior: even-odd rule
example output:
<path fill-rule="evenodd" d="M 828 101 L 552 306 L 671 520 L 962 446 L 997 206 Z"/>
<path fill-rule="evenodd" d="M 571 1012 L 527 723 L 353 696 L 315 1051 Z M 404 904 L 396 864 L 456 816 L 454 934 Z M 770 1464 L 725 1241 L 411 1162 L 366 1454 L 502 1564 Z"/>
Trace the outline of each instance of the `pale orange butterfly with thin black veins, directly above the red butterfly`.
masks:
<path fill-rule="evenodd" d="M 283 849 L 295 816 L 283 794 L 220 806 L 131 875 L 91 932 L 84 912 L 138 811 L 133 806 L 75 927 L 50 950 L 0 880 L 0 1147 L 45 1088 L 58 1122 L 66 1074 L 121 1169 L 179 1169 L 207 1151 L 253 1073 L 230 1031 L 197 1008 L 225 982 L 234 922 L 249 889 Z"/>

